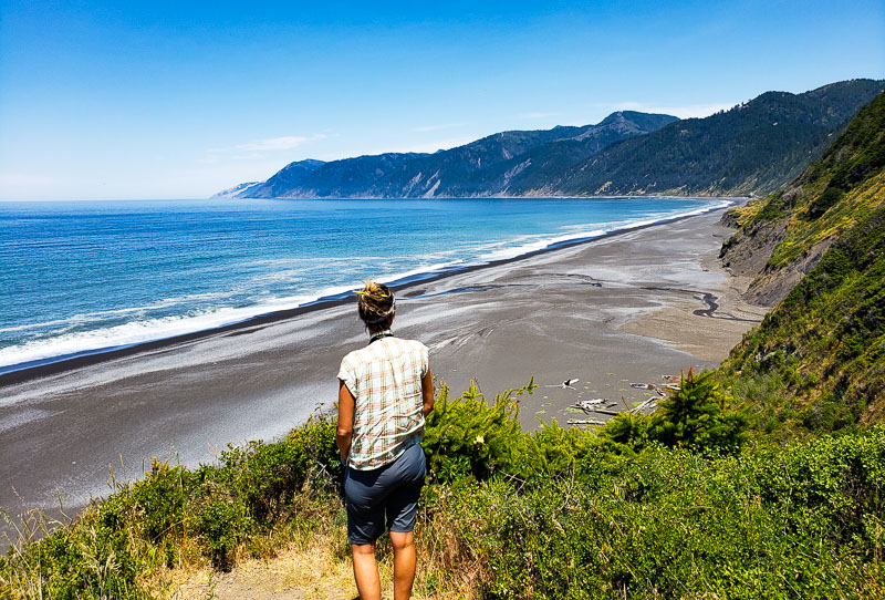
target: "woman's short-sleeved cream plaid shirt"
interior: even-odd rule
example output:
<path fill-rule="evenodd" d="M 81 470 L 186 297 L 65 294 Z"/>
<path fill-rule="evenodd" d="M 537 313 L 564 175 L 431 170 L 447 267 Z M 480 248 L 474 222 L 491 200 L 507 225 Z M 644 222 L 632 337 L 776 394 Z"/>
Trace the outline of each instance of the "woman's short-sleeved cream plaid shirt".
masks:
<path fill-rule="evenodd" d="M 424 437 L 421 379 L 427 346 L 392 335 L 354 350 L 341 361 L 339 379 L 355 400 L 347 464 L 357 470 L 383 467 Z"/>

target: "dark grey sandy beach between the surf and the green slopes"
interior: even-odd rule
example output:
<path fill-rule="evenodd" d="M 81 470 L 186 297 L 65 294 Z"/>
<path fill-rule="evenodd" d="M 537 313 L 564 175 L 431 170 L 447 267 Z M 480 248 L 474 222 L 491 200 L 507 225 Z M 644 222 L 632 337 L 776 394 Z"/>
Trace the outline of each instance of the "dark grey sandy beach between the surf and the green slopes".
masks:
<path fill-rule="evenodd" d="M 394 331 L 428 345 L 454 394 L 470 379 L 491 396 L 534 375 L 523 427 L 582 418 L 579 400 L 632 406 L 648 392 L 629 383 L 717 364 L 764 314 L 718 263 L 720 216 L 406 286 Z M 108 492 L 108 466 L 134 478 L 153 456 L 196 465 L 284 434 L 332 407 L 341 358 L 365 341 L 354 306 L 339 303 L 7 379 L 0 509 L 58 506 L 56 494 L 76 507 Z"/>

